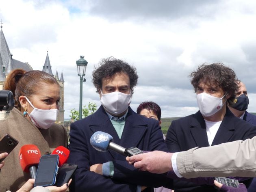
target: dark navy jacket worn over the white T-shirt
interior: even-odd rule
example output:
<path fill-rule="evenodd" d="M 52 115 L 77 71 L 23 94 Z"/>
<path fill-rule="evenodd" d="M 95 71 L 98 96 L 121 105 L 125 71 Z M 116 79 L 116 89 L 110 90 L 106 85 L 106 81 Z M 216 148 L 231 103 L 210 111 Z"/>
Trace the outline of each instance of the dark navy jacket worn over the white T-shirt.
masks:
<path fill-rule="evenodd" d="M 254 136 L 256 136 L 256 127 L 235 117 L 227 108 L 227 112 L 215 135 L 212 145 L 235 140 L 245 140 Z M 206 125 L 200 111 L 172 121 L 165 142 L 171 152 L 187 151 L 193 147 L 208 147 Z M 216 154 L 216 158 L 217 157 L 218 154 Z M 174 188 L 177 189 L 175 191 L 217 191 L 213 186 L 198 186 L 191 182 L 178 180 L 174 180 Z M 180 190 L 178 190 L 178 188 L 180 188 Z"/>

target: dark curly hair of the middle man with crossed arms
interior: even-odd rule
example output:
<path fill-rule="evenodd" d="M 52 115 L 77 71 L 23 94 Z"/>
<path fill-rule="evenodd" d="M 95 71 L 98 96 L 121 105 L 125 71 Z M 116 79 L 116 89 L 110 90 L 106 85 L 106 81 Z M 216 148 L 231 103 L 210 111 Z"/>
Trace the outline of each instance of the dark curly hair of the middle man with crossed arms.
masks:
<path fill-rule="evenodd" d="M 103 79 L 112 78 L 116 73 L 121 72 L 126 73 L 130 78 L 131 94 L 134 93 L 133 88 L 137 85 L 138 81 L 138 75 L 135 67 L 132 67 L 128 63 L 114 57 L 102 59 L 99 66 L 100 67 L 98 68 L 95 67 L 95 70 L 92 72 L 92 82 L 97 89 L 96 93 L 100 93 Z"/>

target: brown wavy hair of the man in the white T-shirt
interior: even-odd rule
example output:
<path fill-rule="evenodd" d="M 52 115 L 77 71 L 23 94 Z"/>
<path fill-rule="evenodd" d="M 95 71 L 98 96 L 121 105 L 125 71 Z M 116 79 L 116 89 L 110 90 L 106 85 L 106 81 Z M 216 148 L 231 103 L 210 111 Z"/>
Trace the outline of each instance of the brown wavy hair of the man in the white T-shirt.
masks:
<path fill-rule="evenodd" d="M 236 97 L 236 92 L 239 90 L 235 72 L 223 63 L 213 63 L 210 65 L 204 63 L 196 71 L 193 71 L 190 77 L 192 78 L 191 84 L 195 92 L 197 91 L 198 85 L 204 83 L 207 86 L 222 88 L 224 92 L 230 94 L 228 100 L 233 100 Z"/>

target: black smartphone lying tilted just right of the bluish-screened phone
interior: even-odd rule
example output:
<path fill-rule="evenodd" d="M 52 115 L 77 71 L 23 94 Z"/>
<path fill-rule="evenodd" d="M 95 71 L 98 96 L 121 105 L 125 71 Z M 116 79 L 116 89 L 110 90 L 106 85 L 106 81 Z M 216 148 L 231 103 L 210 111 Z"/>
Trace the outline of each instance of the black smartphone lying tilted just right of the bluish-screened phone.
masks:
<path fill-rule="evenodd" d="M 64 183 L 68 183 L 69 179 L 75 172 L 77 164 L 65 163 L 63 164 L 57 173 L 56 183 L 54 186 L 61 187 Z"/>

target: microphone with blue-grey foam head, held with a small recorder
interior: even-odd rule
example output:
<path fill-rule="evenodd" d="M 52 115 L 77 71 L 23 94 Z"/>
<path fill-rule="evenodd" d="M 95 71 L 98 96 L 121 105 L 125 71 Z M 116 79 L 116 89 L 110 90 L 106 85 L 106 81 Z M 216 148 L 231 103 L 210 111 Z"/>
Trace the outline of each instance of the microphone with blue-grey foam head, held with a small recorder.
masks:
<path fill-rule="evenodd" d="M 140 153 L 144 153 L 137 147 L 130 147 L 128 149 L 117 145 L 113 142 L 113 137 L 105 132 L 95 132 L 91 138 L 90 138 L 90 143 L 94 149 L 97 151 L 102 151 L 106 152 L 108 149 L 111 149 L 121 155 L 124 156 L 132 156 L 132 155 L 137 155 Z"/>

